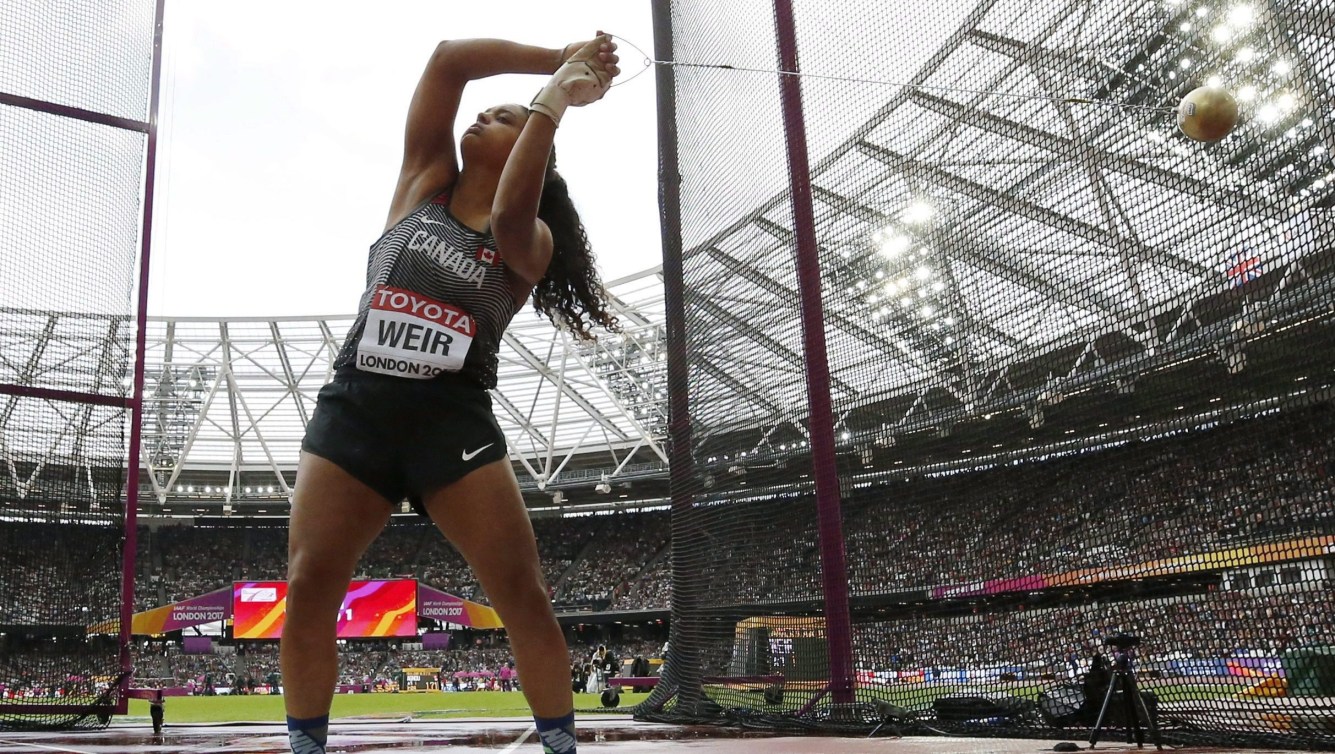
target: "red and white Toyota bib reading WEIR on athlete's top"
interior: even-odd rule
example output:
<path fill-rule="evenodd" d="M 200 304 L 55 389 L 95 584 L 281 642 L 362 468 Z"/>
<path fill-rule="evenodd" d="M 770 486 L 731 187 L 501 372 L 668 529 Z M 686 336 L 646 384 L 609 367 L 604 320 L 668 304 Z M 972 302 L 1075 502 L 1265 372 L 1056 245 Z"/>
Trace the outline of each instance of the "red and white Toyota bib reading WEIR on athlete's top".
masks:
<path fill-rule="evenodd" d="M 356 368 L 409 379 L 457 372 L 474 335 L 477 324 L 459 307 L 376 286 L 356 344 Z"/>

